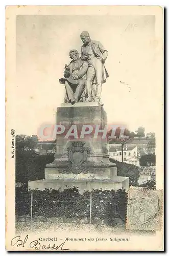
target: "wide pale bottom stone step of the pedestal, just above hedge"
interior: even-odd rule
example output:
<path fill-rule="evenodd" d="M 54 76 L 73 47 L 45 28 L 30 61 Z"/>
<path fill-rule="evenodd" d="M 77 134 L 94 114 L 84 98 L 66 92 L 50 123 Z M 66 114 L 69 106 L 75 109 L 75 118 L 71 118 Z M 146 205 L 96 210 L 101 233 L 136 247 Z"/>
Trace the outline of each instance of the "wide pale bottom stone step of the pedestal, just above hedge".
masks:
<path fill-rule="evenodd" d="M 78 187 L 79 193 L 82 194 L 84 191 L 92 191 L 92 189 L 101 189 L 102 190 L 111 190 L 111 189 L 129 189 L 129 178 L 128 177 L 114 177 L 112 180 L 86 180 L 86 179 L 66 179 L 66 180 L 36 180 L 36 181 L 29 181 L 28 187 L 29 189 L 39 189 L 44 190 L 45 188 L 52 188 L 52 189 L 60 189 L 63 191 L 68 187 Z"/>

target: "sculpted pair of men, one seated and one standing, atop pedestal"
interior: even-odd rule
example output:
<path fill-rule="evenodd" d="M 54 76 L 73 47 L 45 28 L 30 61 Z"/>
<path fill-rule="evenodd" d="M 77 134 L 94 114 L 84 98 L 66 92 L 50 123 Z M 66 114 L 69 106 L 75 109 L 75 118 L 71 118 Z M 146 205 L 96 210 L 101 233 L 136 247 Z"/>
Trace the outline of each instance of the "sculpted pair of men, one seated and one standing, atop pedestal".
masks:
<path fill-rule="evenodd" d="M 108 52 L 101 42 L 91 40 L 89 33 L 81 33 L 83 46 L 81 57 L 77 50 L 71 50 L 72 59 L 65 65 L 64 78 L 59 79 L 65 84 L 65 102 L 75 104 L 79 101 L 95 101 L 101 103 L 102 83 L 109 76 L 104 63 Z"/>

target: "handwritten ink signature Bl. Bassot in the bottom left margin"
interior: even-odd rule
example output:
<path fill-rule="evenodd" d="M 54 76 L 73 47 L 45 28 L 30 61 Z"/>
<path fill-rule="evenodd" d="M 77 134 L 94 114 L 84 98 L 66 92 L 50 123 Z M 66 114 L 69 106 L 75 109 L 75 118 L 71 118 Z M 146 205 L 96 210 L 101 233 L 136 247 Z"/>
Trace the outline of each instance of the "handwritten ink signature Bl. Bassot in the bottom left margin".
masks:
<path fill-rule="evenodd" d="M 58 245 L 55 246 L 55 244 L 54 245 L 51 245 L 51 244 L 49 244 L 49 245 L 45 245 L 45 244 L 41 245 L 38 240 L 31 241 L 30 243 L 28 243 L 27 241 L 28 241 L 28 234 L 27 234 L 27 236 L 25 237 L 24 240 L 21 240 L 20 236 L 16 236 L 16 237 L 14 237 L 11 240 L 11 245 L 12 246 L 17 246 L 17 247 L 19 247 L 19 246 L 20 247 L 27 246 L 27 248 L 31 248 L 31 249 L 34 248 L 35 250 L 39 250 L 39 249 L 58 250 L 58 249 L 60 249 L 61 251 L 70 251 L 69 249 L 64 249 L 63 248 L 65 242 L 63 242 L 59 246 Z M 27 245 L 26 245 L 26 243 L 27 243 Z"/>

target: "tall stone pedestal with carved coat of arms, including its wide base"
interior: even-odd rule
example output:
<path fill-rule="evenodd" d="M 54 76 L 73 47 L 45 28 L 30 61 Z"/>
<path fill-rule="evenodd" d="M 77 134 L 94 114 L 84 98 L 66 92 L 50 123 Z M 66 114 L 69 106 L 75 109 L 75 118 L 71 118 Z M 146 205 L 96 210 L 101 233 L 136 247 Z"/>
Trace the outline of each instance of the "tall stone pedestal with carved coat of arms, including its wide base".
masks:
<path fill-rule="evenodd" d="M 97 125 L 104 130 L 107 115 L 97 102 L 63 103 L 57 109 L 57 124 L 65 127 L 57 135 L 57 150 L 53 163 L 46 164 L 45 179 L 29 182 L 30 189 L 65 189 L 78 186 L 80 193 L 92 189 L 129 188 L 127 177 L 117 177 L 116 166 L 109 161 L 107 136 L 95 133 Z M 74 125 L 73 135 L 66 137 Z M 91 125 L 92 132 L 81 136 L 83 125 Z"/>

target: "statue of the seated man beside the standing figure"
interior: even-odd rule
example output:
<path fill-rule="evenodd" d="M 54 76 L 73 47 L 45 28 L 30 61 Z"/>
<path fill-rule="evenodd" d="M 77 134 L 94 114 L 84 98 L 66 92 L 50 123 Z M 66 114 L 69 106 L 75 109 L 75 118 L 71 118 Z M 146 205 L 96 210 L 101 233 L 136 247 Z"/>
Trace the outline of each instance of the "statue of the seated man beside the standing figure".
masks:
<path fill-rule="evenodd" d="M 65 84 L 66 97 L 65 102 L 75 104 L 80 100 L 85 89 L 85 74 L 87 73 L 87 61 L 79 58 L 77 50 L 71 50 L 69 56 L 72 59 L 69 65 L 65 65 L 64 78 L 60 78 L 59 82 Z"/>

